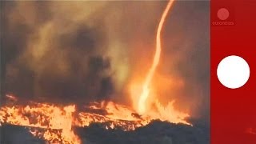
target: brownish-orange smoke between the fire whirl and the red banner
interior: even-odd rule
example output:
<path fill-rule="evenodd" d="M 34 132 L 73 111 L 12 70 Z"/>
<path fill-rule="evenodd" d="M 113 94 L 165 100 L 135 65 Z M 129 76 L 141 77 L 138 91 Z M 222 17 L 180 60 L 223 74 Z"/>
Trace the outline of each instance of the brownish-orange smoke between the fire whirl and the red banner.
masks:
<path fill-rule="evenodd" d="M 190 110 L 192 118 L 210 122 L 210 3 L 177 2 L 163 41 L 162 74 L 182 81 L 179 86 L 173 80 L 167 97 Z"/>

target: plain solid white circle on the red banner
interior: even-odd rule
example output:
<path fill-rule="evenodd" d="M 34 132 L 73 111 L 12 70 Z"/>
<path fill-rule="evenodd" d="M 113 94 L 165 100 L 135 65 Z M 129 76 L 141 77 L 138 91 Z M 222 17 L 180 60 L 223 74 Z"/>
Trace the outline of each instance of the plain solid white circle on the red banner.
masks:
<path fill-rule="evenodd" d="M 248 81 L 250 67 L 241 57 L 231 55 L 223 58 L 218 64 L 217 75 L 219 82 L 230 89 L 237 89 Z"/>

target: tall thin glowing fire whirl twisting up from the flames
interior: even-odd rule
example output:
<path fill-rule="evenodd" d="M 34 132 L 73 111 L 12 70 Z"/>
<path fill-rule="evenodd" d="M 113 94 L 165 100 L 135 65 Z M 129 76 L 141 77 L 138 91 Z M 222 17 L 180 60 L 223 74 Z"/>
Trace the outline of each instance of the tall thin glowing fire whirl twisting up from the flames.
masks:
<path fill-rule="evenodd" d="M 159 63 L 159 59 L 161 56 L 161 31 L 162 31 L 162 26 L 164 24 L 164 22 L 166 21 L 166 15 L 168 14 L 168 12 L 170 11 L 170 7 L 173 5 L 174 0 L 170 0 L 170 2 L 168 2 L 166 9 L 164 10 L 164 12 L 162 13 L 162 18 L 159 22 L 158 25 L 158 31 L 157 31 L 157 36 L 156 36 L 156 50 L 155 50 L 155 54 L 154 54 L 154 60 L 152 63 L 152 66 L 150 67 L 150 70 L 148 72 L 148 74 L 146 75 L 146 80 L 142 86 L 142 94 L 140 95 L 140 98 L 138 100 L 138 113 L 139 114 L 143 114 L 146 111 L 146 99 L 149 97 L 150 94 L 150 82 L 154 76 L 154 71 L 156 70 L 158 63 Z"/>

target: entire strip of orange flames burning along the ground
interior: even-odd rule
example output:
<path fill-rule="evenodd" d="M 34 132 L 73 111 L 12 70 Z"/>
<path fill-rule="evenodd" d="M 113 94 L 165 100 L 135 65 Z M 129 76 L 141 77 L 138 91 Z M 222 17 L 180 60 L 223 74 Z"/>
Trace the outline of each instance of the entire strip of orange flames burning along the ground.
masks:
<path fill-rule="evenodd" d="M 7 98 L 11 101 L 15 97 L 9 95 Z M 82 111 L 76 110 L 74 105 L 56 106 L 37 102 L 30 102 L 27 106 L 13 104 L 0 108 L 0 126 L 28 126 L 31 134 L 50 143 L 80 144 L 74 127 L 90 126 L 95 122 L 102 123 L 106 130 L 119 128 L 125 131 L 146 126 L 156 119 L 190 125 L 184 120 L 188 114 L 175 111 L 173 103 L 166 107 L 156 103 L 157 110 L 145 115 L 138 115 L 130 107 L 114 102 L 94 102 Z"/>

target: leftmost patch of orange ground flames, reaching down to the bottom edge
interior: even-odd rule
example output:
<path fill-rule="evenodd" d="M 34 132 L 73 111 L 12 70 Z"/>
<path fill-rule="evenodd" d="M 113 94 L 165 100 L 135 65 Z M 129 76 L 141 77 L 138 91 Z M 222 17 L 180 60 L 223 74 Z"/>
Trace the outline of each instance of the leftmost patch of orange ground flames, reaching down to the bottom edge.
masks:
<path fill-rule="evenodd" d="M 72 130 L 74 111 L 75 106 L 61 107 L 35 102 L 31 106 L 4 106 L 0 109 L 0 122 L 30 126 L 31 134 L 49 142 L 79 144 L 80 140 Z"/>

